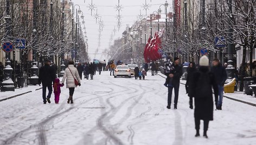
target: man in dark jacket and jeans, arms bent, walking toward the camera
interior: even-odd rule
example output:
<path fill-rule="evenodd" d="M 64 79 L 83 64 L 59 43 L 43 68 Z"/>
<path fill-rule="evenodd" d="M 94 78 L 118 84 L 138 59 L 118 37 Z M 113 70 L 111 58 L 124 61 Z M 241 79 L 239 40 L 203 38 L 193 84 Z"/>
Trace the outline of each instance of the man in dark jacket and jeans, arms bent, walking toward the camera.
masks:
<path fill-rule="evenodd" d="M 180 78 L 182 76 L 182 67 L 180 64 L 180 58 L 174 58 L 174 69 L 168 73 L 169 83 L 168 83 L 168 105 L 167 108 L 171 109 L 171 95 L 172 89 L 174 89 L 174 109 L 177 109 L 178 103 L 178 90 L 180 88 Z"/>

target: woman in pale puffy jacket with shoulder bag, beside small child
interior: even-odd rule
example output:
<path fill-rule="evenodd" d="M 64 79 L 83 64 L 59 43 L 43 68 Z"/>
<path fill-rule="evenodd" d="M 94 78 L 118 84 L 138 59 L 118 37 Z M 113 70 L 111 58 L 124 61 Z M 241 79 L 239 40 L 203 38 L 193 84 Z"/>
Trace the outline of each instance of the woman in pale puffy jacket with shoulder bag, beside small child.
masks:
<path fill-rule="evenodd" d="M 78 69 L 75 68 L 73 61 L 68 62 L 68 67 L 65 69 L 65 73 L 63 75 L 61 83 L 64 84 L 65 80 L 66 88 L 69 89 L 69 97 L 67 103 L 69 104 L 70 102 L 71 104 L 73 104 L 73 95 L 75 88 L 77 87 L 77 85 L 81 86 L 81 80 L 78 74 Z M 75 80 L 78 82 L 77 85 L 75 83 Z"/>

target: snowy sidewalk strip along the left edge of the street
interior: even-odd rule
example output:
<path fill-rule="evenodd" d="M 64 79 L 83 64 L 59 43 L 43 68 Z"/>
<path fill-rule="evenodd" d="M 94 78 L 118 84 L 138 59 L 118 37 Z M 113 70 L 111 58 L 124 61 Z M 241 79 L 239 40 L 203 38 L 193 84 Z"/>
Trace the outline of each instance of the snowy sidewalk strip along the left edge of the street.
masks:
<path fill-rule="evenodd" d="M 0 91 L 0 102 L 4 100 L 8 100 L 10 98 L 24 95 L 27 93 L 31 93 L 32 91 L 36 91 L 41 88 L 42 86 L 39 86 L 39 85 L 28 85 L 28 87 L 17 88 L 15 89 L 15 91 Z"/>

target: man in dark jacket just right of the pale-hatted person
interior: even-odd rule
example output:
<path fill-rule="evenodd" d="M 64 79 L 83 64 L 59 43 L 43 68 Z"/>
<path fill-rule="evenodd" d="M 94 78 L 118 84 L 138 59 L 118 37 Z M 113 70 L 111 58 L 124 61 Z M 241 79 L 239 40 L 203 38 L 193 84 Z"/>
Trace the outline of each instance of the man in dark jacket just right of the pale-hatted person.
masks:
<path fill-rule="evenodd" d="M 217 104 L 217 110 L 222 110 L 222 99 L 223 99 L 223 91 L 224 91 L 224 84 L 227 80 L 227 72 L 225 67 L 222 67 L 220 61 L 215 58 L 213 60 L 213 67 L 211 68 L 212 73 L 215 76 L 216 83 L 219 89 L 219 102 Z"/>

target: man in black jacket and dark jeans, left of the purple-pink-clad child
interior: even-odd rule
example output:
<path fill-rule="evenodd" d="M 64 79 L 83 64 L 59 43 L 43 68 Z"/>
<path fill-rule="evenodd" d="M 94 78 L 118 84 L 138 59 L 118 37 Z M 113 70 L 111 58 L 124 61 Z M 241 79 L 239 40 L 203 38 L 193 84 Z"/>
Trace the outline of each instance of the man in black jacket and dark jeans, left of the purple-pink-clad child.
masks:
<path fill-rule="evenodd" d="M 50 61 L 46 60 L 44 62 L 44 66 L 39 70 L 39 85 L 43 85 L 43 103 L 46 104 L 46 100 L 50 103 L 50 95 L 52 95 L 53 87 L 52 84 L 54 83 L 54 79 L 56 75 L 54 74 L 54 69 L 50 67 Z M 48 95 L 46 98 L 46 88 L 48 88 Z"/>

